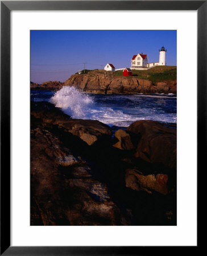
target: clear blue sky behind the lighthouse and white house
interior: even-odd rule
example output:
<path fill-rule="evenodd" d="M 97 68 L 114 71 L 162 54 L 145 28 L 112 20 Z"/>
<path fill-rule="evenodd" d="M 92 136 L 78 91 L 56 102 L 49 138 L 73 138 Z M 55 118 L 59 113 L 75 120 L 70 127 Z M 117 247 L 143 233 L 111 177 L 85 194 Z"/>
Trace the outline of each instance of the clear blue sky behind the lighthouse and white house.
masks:
<path fill-rule="evenodd" d="M 130 68 L 133 55 L 147 54 L 159 62 L 159 49 L 167 49 L 167 65 L 177 65 L 176 30 L 31 30 L 31 81 L 64 82 L 84 69 L 107 63 Z M 102 66 L 101 66 L 102 65 Z"/>

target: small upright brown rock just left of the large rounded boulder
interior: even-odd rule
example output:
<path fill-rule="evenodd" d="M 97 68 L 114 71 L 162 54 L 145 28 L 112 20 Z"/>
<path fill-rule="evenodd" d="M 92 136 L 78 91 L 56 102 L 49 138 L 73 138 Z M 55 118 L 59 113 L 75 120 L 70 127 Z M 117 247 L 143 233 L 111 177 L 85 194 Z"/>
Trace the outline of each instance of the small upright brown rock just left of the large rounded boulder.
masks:
<path fill-rule="evenodd" d="M 131 138 L 129 133 L 124 130 L 118 130 L 115 132 L 114 137 L 118 139 L 118 142 L 113 145 L 121 150 L 132 150 L 134 149 L 133 143 L 131 143 Z"/>

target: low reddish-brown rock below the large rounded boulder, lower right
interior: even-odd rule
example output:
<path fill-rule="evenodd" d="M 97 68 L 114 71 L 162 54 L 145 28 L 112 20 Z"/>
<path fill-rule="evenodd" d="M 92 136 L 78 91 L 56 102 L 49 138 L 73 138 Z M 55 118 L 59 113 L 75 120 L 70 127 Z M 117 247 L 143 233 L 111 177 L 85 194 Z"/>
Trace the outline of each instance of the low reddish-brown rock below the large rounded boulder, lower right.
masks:
<path fill-rule="evenodd" d="M 168 175 L 167 174 L 150 174 L 142 175 L 139 171 L 135 169 L 127 169 L 125 175 L 125 183 L 127 188 L 134 189 L 136 191 L 146 191 L 147 193 L 152 193 L 152 191 L 157 191 L 163 195 L 167 195 Z"/>

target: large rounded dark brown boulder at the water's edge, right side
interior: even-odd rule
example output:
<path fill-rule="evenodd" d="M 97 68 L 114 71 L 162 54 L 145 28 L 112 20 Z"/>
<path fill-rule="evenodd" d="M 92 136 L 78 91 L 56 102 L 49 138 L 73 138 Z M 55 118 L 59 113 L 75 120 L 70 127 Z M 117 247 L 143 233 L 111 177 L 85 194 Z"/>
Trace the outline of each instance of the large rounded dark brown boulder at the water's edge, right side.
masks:
<path fill-rule="evenodd" d="M 127 131 L 138 140 L 135 157 L 150 163 L 162 163 L 176 168 L 176 129 L 163 126 L 156 121 L 136 121 Z"/>

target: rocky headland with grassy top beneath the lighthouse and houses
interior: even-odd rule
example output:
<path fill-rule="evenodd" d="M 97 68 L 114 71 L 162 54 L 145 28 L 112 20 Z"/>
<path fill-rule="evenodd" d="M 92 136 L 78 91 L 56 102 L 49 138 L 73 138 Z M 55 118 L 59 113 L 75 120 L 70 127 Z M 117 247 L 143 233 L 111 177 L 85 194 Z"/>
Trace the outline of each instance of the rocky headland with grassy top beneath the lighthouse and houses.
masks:
<path fill-rule="evenodd" d="M 122 71 L 95 69 L 74 74 L 65 82 L 31 82 L 31 90 L 59 90 L 74 86 L 81 92 L 96 94 L 177 93 L 177 68 L 156 66 L 147 71 L 133 70 L 132 76 L 122 76 Z"/>

